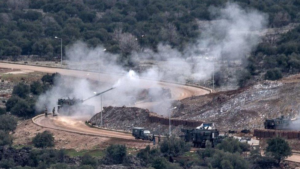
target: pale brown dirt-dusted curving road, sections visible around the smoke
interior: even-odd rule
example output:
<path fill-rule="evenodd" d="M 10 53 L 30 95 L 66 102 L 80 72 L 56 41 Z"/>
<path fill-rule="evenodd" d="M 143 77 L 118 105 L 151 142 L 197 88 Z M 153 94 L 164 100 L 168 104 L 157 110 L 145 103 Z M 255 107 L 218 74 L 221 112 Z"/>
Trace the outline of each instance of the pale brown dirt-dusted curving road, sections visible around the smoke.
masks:
<path fill-rule="evenodd" d="M 123 77 L 121 75 L 115 75 L 115 74 L 111 75 L 111 74 L 95 73 L 95 72 L 80 71 L 80 70 L 19 65 L 19 64 L 11 64 L 11 63 L 2 63 L 2 62 L 0 62 L 0 67 L 9 68 L 9 69 L 31 70 L 31 71 L 46 72 L 46 73 L 58 72 L 62 75 L 73 76 L 73 77 L 85 77 L 88 79 L 107 82 L 111 84 L 116 83 L 118 79 Z M 89 74 L 89 76 L 86 76 L 86 74 Z M 141 87 L 148 88 L 149 85 L 152 84 L 154 81 L 148 79 L 140 79 L 139 82 Z M 205 95 L 210 93 L 210 91 L 205 89 L 184 86 L 184 85 L 179 85 L 174 83 L 158 82 L 158 84 L 161 87 L 170 88 L 172 93 L 172 99 L 176 99 L 176 100 L 191 97 L 192 95 Z M 144 106 L 140 105 L 140 107 L 144 107 Z M 99 130 L 97 128 L 88 127 L 84 124 L 85 120 L 87 119 L 88 119 L 87 117 L 81 119 L 70 119 L 70 118 L 65 118 L 63 116 L 62 117 L 55 116 L 51 118 L 40 117 L 35 119 L 35 123 L 43 127 L 49 127 L 52 129 L 58 129 L 64 131 L 71 131 L 71 132 L 76 132 L 78 134 L 93 134 L 93 135 L 99 135 L 105 137 L 133 139 L 133 137 L 130 134 L 120 133 L 116 131 Z"/>

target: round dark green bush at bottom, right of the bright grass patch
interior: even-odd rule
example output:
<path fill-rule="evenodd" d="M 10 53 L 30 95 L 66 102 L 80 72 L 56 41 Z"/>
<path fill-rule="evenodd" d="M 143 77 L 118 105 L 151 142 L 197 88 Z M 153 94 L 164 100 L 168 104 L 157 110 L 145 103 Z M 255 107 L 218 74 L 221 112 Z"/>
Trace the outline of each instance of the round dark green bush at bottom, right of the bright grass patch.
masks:
<path fill-rule="evenodd" d="M 121 164 L 126 157 L 125 145 L 113 144 L 106 148 L 105 159 L 111 164 Z"/>

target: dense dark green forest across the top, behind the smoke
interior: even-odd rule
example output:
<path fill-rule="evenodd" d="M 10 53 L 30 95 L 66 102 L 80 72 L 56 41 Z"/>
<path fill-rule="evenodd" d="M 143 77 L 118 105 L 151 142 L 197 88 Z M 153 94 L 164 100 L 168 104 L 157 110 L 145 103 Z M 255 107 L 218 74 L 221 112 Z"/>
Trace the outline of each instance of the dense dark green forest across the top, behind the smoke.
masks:
<path fill-rule="evenodd" d="M 166 42 L 179 50 L 199 35 L 196 20 L 211 20 L 211 6 L 227 0 L 1 0 L 0 55 L 51 59 L 76 40 L 130 54 Z M 269 15 L 269 26 L 299 22 L 300 0 L 237 0 Z M 284 41 L 289 41 L 287 36 Z"/>

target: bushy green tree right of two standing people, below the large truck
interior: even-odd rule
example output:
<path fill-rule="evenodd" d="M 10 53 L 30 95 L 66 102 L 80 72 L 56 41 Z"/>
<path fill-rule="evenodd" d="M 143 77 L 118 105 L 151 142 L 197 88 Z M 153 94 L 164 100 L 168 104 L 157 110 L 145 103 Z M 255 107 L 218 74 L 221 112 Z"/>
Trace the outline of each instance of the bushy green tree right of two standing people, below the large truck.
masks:
<path fill-rule="evenodd" d="M 160 152 L 173 162 L 173 157 L 182 155 L 191 149 L 191 144 L 185 143 L 183 139 L 171 136 L 169 139 L 164 139 L 160 145 Z"/>

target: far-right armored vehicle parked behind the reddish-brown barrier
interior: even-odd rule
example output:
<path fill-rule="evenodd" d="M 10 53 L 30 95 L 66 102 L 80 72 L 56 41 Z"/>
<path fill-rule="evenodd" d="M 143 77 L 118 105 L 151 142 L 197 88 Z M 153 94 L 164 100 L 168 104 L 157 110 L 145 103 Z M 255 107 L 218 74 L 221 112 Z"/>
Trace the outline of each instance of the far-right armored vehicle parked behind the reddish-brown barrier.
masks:
<path fill-rule="evenodd" d="M 274 130 L 289 130 L 291 122 L 295 119 L 284 118 L 280 116 L 276 119 L 266 119 L 264 122 L 265 129 L 274 129 Z"/>

